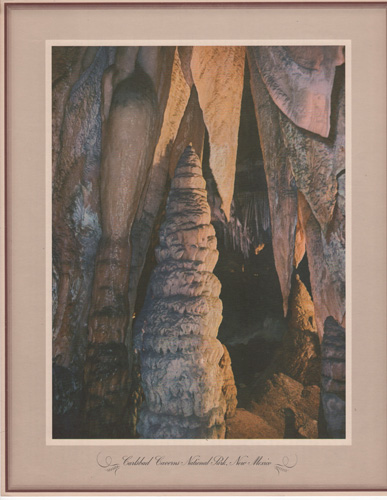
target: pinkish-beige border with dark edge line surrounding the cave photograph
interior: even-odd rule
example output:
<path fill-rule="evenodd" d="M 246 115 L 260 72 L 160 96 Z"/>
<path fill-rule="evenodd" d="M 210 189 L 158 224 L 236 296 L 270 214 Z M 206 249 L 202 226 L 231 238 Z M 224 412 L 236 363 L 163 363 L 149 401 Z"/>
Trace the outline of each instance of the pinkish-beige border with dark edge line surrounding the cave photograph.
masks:
<path fill-rule="evenodd" d="M 386 6 L 2 1 L 4 495 L 386 494 Z M 349 404 L 342 442 L 51 439 L 50 48 L 178 40 L 346 46 Z M 202 465 L 190 466 L 194 456 Z M 205 465 L 211 457 L 219 459 Z"/>

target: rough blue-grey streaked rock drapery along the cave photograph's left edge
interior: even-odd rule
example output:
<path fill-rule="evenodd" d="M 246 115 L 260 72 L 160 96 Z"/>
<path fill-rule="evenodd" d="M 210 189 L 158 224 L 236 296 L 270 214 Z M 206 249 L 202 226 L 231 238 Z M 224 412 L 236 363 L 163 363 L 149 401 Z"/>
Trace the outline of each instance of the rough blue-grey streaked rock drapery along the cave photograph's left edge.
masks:
<path fill-rule="evenodd" d="M 74 361 L 82 363 L 79 357 L 87 338 L 94 259 L 101 236 L 101 80 L 112 55 L 108 47 L 99 48 L 85 69 L 79 58 L 70 75 L 59 79 L 58 84 L 66 82 L 67 100 L 63 94 L 60 106 L 54 102 L 60 109 L 53 109 L 53 147 L 58 141 L 59 148 L 52 194 L 53 358 L 66 367 Z M 80 76 L 71 85 L 76 74 Z"/>

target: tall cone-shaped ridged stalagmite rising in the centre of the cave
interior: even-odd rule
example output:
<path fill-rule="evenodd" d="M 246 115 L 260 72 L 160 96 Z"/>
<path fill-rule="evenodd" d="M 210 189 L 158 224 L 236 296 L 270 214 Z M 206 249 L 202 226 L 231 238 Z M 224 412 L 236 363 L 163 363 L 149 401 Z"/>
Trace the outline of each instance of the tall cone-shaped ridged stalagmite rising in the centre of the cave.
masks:
<path fill-rule="evenodd" d="M 205 180 L 191 146 L 175 170 L 156 266 L 136 325 L 145 403 L 140 437 L 225 437 L 236 407 L 222 321 L 218 260 Z"/>

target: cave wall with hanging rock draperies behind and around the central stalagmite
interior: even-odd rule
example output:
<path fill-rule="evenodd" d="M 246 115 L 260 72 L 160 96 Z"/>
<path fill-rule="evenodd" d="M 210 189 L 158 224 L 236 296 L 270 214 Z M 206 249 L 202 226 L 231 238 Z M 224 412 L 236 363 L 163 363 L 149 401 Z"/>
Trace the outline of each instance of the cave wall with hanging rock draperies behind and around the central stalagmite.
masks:
<path fill-rule="evenodd" d="M 136 436 L 139 283 L 178 159 L 189 143 L 202 158 L 205 134 L 213 218 L 246 255 L 271 236 L 284 316 L 306 252 L 320 340 L 327 317 L 345 327 L 342 47 L 54 47 L 52 60 L 54 436 Z M 235 182 L 246 86 L 258 194 Z"/>

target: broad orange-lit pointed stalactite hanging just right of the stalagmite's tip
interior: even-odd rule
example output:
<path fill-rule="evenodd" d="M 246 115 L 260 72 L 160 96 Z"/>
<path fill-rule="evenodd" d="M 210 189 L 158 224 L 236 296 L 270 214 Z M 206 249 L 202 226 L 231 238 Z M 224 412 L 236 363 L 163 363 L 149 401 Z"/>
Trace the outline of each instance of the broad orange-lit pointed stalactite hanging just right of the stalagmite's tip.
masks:
<path fill-rule="evenodd" d="M 226 217 L 234 192 L 244 47 L 195 46 L 191 71 L 210 141 L 210 167 Z"/>

